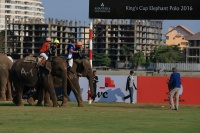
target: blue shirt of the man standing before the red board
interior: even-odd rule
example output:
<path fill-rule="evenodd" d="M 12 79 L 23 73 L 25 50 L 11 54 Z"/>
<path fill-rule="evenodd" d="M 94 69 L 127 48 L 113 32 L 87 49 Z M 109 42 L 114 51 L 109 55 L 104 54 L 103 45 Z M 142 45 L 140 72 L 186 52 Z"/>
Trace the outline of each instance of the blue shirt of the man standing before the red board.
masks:
<path fill-rule="evenodd" d="M 172 82 L 172 88 L 181 88 L 180 86 L 180 73 L 172 73 L 170 76 L 170 82 Z"/>

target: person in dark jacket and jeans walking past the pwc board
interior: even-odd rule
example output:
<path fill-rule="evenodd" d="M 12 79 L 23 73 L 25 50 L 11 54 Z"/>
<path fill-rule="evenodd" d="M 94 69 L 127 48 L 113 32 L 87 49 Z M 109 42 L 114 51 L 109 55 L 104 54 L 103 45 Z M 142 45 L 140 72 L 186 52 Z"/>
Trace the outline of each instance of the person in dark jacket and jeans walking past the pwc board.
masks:
<path fill-rule="evenodd" d="M 133 87 L 135 88 L 135 90 L 137 90 L 137 88 L 134 84 L 134 72 L 131 70 L 130 75 L 128 76 L 127 82 L 126 82 L 126 91 L 129 90 L 129 95 L 123 97 L 124 102 L 127 98 L 130 98 L 130 103 L 134 104 L 134 102 L 133 102 L 133 93 L 134 93 Z"/>

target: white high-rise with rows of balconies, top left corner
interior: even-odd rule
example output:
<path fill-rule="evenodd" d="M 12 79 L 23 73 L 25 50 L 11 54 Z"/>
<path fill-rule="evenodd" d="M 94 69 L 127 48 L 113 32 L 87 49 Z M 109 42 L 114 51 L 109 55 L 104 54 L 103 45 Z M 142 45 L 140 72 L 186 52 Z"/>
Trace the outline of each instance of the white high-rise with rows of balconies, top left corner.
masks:
<path fill-rule="evenodd" d="M 5 18 L 11 21 L 36 19 L 43 22 L 44 7 L 40 0 L 0 0 L 0 31 L 5 29 Z"/>

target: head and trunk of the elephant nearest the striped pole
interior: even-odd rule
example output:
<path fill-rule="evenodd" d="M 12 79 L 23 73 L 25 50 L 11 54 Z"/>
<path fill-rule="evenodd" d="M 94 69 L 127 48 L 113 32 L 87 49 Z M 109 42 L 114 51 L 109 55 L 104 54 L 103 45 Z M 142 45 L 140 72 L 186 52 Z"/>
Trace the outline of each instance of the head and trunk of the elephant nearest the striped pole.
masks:
<path fill-rule="evenodd" d="M 92 72 L 92 67 L 88 59 L 83 58 L 81 59 L 82 62 L 82 67 L 79 67 L 83 77 L 86 77 L 89 80 L 89 85 L 90 85 L 90 91 L 91 91 L 91 97 L 94 96 L 94 87 L 93 87 L 93 72 Z"/>

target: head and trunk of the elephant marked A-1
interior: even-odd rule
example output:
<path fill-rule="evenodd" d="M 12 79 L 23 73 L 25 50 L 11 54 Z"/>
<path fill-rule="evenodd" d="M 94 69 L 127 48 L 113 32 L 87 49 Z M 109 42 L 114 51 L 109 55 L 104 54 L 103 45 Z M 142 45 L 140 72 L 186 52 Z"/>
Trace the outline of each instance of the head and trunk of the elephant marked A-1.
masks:
<path fill-rule="evenodd" d="M 51 62 L 46 62 L 45 66 L 46 66 L 46 69 L 48 69 L 51 72 L 53 77 L 57 77 L 62 80 L 62 85 L 60 86 L 62 86 L 63 95 L 65 97 L 68 97 L 66 59 L 63 57 L 55 57 Z"/>

